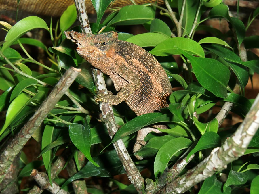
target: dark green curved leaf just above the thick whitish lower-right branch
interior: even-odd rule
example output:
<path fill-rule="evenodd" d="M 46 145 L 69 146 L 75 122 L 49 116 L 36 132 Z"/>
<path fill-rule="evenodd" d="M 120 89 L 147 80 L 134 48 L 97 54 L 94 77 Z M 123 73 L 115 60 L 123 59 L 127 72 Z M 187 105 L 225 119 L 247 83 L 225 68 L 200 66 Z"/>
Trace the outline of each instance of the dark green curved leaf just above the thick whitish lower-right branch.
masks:
<path fill-rule="evenodd" d="M 197 145 L 190 151 L 190 153 L 188 153 L 186 161 L 188 161 L 191 155 L 193 155 L 197 151 L 220 146 L 220 136 L 212 131 L 206 132 L 203 136 L 201 136 L 201 139 L 199 139 Z"/>

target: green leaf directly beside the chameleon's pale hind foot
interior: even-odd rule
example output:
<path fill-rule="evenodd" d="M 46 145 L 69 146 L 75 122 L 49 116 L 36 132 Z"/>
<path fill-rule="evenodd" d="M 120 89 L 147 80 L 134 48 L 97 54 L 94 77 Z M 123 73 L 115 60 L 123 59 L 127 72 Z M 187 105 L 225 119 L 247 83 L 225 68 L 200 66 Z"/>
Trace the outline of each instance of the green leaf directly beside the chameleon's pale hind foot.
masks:
<path fill-rule="evenodd" d="M 151 138 L 148 143 L 138 150 L 134 155 L 138 154 L 140 157 L 153 157 L 157 151 L 164 145 L 167 141 L 174 139 L 175 137 L 171 135 L 164 135 L 161 137 L 153 137 Z"/>

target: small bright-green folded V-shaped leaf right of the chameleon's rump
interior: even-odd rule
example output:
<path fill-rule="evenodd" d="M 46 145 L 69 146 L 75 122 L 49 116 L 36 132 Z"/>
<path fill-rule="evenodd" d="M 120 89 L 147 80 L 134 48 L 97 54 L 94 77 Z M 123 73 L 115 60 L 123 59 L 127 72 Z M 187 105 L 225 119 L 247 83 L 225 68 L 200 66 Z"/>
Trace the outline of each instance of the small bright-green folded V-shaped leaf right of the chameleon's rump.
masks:
<path fill-rule="evenodd" d="M 193 117 L 193 122 L 202 135 L 205 132 L 212 131 L 216 133 L 218 131 L 218 120 L 216 118 L 214 118 L 210 122 L 202 123 L 202 122 L 199 122 L 196 117 Z"/>

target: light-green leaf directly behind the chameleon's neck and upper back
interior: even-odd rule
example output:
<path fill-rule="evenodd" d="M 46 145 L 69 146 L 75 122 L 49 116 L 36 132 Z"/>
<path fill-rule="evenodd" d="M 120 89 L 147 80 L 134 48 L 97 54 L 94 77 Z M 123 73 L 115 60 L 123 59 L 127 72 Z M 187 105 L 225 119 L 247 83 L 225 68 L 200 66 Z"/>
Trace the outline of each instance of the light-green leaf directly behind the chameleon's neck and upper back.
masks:
<path fill-rule="evenodd" d="M 128 38 L 126 41 L 138 45 L 140 47 L 155 47 L 169 37 L 159 33 L 143 33 Z"/>

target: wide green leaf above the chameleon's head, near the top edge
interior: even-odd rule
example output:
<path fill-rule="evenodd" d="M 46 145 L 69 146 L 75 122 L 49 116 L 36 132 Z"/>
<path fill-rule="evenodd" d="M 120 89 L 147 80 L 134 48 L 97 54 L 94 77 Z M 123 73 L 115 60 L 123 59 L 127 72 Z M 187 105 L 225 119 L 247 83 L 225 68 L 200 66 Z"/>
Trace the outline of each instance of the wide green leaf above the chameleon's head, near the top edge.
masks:
<path fill-rule="evenodd" d="M 153 19 L 154 14 L 150 7 L 144 5 L 128 5 L 122 7 L 107 26 L 144 24 Z"/>

